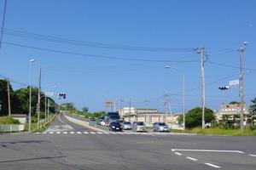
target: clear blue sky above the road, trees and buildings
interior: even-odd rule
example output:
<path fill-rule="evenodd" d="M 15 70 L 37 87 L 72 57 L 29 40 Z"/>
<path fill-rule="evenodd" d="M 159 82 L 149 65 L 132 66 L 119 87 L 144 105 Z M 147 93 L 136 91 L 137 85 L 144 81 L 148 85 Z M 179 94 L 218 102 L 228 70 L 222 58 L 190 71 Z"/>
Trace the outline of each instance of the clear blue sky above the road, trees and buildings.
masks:
<path fill-rule="evenodd" d="M 58 86 L 48 91 L 67 93 L 65 102 L 79 109 L 102 111 L 106 99 L 123 99 L 125 106 L 131 99 L 132 106 L 164 111 L 164 94 L 169 93 L 172 111 L 182 112 L 182 75 L 165 65 L 184 72 L 186 110 L 201 105 L 200 56 L 184 49 L 204 47 L 209 54 L 206 105 L 218 110 L 239 99 L 237 87 L 218 87 L 238 79 L 237 49 L 246 41 L 245 67 L 252 70 L 245 74 L 245 99 L 250 105 L 256 97 L 255 8 L 254 0 L 8 0 L 0 74 L 28 84 L 28 60 L 33 58 L 32 84 L 38 84 L 41 65 L 43 88 Z M 13 87 L 22 85 L 13 82 Z"/>

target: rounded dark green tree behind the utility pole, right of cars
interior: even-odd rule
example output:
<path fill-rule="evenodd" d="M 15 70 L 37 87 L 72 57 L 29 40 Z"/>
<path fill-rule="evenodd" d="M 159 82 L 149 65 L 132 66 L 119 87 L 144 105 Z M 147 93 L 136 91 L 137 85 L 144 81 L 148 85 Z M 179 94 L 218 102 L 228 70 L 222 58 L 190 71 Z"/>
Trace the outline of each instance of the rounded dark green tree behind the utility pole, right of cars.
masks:
<path fill-rule="evenodd" d="M 212 122 L 215 120 L 214 112 L 211 109 L 205 110 L 205 121 Z M 194 109 L 190 110 L 188 113 L 186 113 L 186 127 L 192 128 L 192 127 L 199 127 L 201 126 L 201 107 L 195 107 Z M 178 122 L 183 122 L 183 115 L 180 115 L 178 117 Z"/>

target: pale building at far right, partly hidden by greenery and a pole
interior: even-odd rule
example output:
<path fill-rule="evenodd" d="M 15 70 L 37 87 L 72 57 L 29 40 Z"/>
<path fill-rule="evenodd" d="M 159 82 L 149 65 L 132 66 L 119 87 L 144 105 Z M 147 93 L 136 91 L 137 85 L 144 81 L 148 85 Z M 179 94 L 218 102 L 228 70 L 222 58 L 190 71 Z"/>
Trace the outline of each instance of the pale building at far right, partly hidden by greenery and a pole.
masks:
<path fill-rule="evenodd" d="M 239 125 L 240 123 L 240 104 L 221 105 L 216 113 L 216 119 L 219 123 L 231 123 L 233 125 Z M 247 121 L 249 111 L 247 105 L 244 105 L 244 117 Z"/>

